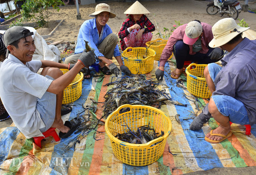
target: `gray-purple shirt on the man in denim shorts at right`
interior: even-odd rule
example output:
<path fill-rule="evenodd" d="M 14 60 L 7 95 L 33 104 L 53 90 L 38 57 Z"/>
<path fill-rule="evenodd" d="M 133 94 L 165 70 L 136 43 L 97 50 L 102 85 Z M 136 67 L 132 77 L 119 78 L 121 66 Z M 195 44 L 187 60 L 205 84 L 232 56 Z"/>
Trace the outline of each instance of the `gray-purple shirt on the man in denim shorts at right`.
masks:
<path fill-rule="evenodd" d="M 241 101 L 250 124 L 256 123 L 256 40 L 244 38 L 221 62 L 212 95 L 229 95 Z"/>

